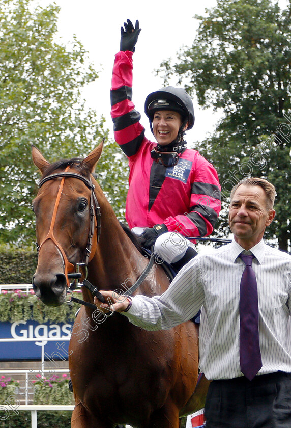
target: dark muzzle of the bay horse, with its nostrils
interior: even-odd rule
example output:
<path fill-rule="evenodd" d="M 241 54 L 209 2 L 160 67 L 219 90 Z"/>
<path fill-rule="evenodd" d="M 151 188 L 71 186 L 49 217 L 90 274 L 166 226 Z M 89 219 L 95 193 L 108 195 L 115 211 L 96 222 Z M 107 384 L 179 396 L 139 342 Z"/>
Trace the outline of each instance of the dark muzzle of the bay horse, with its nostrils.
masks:
<path fill-rule="evenodd" d="M 64 274 L 51 274 L 43 278 L 35 273 L 32 284 L 35 294 L 45 305 L 60 306 L 65 302 L 67 279 Z"/>

